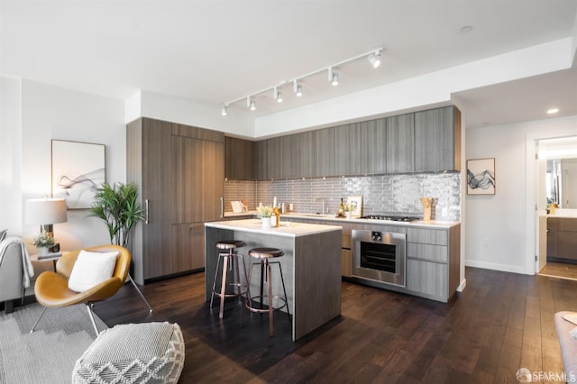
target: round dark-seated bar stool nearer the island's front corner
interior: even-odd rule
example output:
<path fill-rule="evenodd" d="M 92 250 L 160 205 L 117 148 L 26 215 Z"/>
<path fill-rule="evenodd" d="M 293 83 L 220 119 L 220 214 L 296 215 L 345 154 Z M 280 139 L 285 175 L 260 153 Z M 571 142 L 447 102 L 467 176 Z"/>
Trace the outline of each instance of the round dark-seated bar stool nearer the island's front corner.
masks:
<path fill-rule="evenodd" d="M 251 265 L 251 270 L 249 272 L 249 282 L 248 286 L 251 287 L 251 279 L 252 279 L 252 267 L 261 265 L 261 295 L 251 297 L 250 293 L 247 296 L 246 300 L 246 307 L 251 312 L 259 312 L 259 313 L 268 313 L 269 314 L 269 334 L 270 336 L 273 335 L 273 325 L 272 325 L 272 313 L 283 307 L 287 307 L 287 315 L 289 316 L 289 324 L 290 324 L 290 313 L 289 313 L 289 302 L 287 299 L 287 288 L 285 288 L 285 279 L 282 276 L 282 267 L 280 266 L 279 261 L 269 261 L 270 259 L 278 258 L 285 253 L 277 248 L 252 248 L 249 251 L 249 255 L 255 259 L 260 259 L 260 262 L 254 262 Z M 279 265 L 279 272 L 280 272 L 280 280 L 282 282 L 282 290 L 284 291 L 284 297 L 273 296 L 272 295 L 272 264 Z M 267 281 L 267 293 L 263 292 L 264 281 Z M 267 307 L 264 307 L 263 301 L 264 298 L 267 298 Z M 260 298 L 260 306 L 257 307 L 258 303 L 254 303 L 254 299 Z M 273 300 L 278 298 L 283 302 L 282 306 L 274 307 Z"/>

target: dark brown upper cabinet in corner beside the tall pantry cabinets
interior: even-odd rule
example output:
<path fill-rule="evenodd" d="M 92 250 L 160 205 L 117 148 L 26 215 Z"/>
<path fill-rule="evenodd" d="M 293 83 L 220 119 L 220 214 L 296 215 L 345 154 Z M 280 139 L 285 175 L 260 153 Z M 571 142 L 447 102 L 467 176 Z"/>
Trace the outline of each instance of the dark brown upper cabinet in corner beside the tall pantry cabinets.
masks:
<path fill-rule="evenodd" d="M 256 179 L 255 142 L 226 136 L 224 138 L 224 178 Z"/>

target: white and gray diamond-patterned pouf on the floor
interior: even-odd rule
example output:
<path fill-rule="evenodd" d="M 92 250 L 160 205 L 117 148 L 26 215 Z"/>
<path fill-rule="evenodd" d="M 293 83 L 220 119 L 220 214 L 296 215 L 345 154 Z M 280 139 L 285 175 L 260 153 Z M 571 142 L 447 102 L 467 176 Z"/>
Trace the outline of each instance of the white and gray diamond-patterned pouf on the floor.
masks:
<path fill-rule="evenodd" d="M 177 383 L 185 344 L 178 324 L 115 325 L 76 361 L 73 383 Z"/>

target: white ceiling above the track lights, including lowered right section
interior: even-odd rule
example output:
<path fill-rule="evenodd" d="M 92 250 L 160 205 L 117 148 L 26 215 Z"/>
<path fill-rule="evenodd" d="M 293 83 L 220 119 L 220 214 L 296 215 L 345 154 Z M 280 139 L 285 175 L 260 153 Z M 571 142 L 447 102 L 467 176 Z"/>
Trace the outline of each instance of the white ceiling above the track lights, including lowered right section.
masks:
<path fill-rule="evenodd" d="M 218 105 L 280 85 L 282 104 L 255 95 L 259 116 L 563 39 L 576 14 L 577 0 L 0 0 L 0 75 Z M 358 59 L 328 84 L 328 66 L 380 47 L 380 69 Z M 294 96 L 285 82 L 319 69 Z M 467 126 L 577 114 L 577 70 L 458 96 Z"/>

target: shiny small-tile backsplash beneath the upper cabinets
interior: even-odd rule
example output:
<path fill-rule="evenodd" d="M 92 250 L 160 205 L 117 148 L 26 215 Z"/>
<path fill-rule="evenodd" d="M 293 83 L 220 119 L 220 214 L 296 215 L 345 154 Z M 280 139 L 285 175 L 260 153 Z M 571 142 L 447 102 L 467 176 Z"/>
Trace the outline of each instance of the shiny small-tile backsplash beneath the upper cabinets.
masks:
<path fill-rule="evenodd" d="M 433 219 L 461 219 L 461 175 L 459 173 L 421 173 L 352 178 L 309 178 L 273 181 L 225 181 L 224 207 L 232 212 L 230 201 L 244 200 L 249 209 L 259 203 L 293 205 L 295 212 L 316 213 L 325 199 L 329 213 L 338 208 L 341 198 L 362 196 L 362 215 L 399 214 L 422 215 L 419 197 L 433 197 Z M 446 209 L 444 209 L 446 207 Z M 446 211 L 446 212 L 444 212 Z M 444 215 L 446 213 L 446 215 Z"/>

